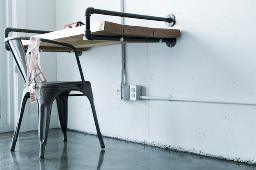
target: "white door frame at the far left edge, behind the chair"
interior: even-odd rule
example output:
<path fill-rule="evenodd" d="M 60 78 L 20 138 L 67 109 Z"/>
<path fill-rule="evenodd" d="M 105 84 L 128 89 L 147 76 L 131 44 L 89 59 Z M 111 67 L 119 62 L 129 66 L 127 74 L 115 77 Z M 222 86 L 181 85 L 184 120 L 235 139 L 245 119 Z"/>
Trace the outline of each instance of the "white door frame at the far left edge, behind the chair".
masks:
<path fill-rule="evenodd" d="M 4 0 L 0 2 L 0 29 L 3 31 L 7 25 L 12 25 L 12 11 L 14 3 L 13 0 Z M 4 40 L 4 35 L 0 35 L 0 40 Z M 10 53 L 4 49 L 4 46 L 0 46 L 0 132 L 13 131 L 13 94 L 15 89 L 13 88 L 13 59 L 10 57 Z"/>

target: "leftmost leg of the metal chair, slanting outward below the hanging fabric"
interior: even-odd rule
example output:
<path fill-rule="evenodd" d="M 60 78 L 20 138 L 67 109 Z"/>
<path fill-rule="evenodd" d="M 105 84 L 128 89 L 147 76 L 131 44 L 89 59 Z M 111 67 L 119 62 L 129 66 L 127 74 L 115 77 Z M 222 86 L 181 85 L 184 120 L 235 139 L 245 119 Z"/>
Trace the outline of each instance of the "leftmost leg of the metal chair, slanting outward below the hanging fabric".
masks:
<path fill-rule="evenodd" d="M 10 147 L 11 151 L 14 151 L 14 148 L 16 146 L 16 142 L 17 142 L 17 139 L 18 139 L 18 135 L 19 135 L 19 131 L 20 131 L 20 125 L 21 125 L 24 109 L 25 109 L 25 106 L 26 106 L 26 102 L 27 102 L 27 97 L 26 97 L 26 95 L 23 95 L 23 99 L 22 99 L 21 104 L 20 104 L 20 113 L 19 113 L 19 116 L 18 116 L 16 129 L 14 131 L 14 135 L 13 135 L 12 140 L 11 140 L 11 147 Z"/>

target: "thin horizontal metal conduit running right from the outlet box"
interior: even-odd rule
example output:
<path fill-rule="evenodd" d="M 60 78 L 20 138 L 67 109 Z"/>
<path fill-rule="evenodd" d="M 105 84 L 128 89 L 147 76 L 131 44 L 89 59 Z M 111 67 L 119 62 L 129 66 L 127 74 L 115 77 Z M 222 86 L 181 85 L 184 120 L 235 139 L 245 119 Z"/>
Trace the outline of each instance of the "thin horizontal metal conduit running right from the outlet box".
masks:
<path fill-rule="evenodd" d="M 151 97 L 151 96 L 139 96 L 138 98 L 139 99 L 168 100 L 168 101 L 173 101 L 173 102 L 199 102 L 199 103 L 215 103 L 215 104 L 256 105 L 256 102 L 254 102 L 254 101 L 217 100 L 217 99 L 192 99 L 192 98 Z"/>

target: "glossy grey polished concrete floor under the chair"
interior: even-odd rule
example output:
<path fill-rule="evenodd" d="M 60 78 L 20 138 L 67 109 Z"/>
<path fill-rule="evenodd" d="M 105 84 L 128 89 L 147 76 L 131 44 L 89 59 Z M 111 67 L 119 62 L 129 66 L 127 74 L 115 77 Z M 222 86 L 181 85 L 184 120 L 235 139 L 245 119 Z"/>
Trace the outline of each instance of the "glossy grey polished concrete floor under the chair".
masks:
<path fill-rule="evenodd" d="M 0 170 L 255 170 L 255 165 L 175 152 L 162 148 L 68 131 L 50 129 L 45 159 L 39 159 L 38 132 L 22 132 L 14 152 L 13 132 L 0 134 Z"/>

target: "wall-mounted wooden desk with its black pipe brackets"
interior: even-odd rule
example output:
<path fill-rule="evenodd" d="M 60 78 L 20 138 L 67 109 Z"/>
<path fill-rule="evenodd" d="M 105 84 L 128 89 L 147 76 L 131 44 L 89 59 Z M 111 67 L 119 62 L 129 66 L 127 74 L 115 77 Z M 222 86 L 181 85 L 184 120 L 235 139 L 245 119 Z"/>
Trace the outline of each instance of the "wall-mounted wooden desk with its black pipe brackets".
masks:
<path fill-rule="evenodd" d="M 86 49 L 90 47 L 125 43 L 165 42 L 167 46 L 173 47 L 176 43 L 176 38 L 180 36 L 180 30 L 178 29 L 160 29 L 142 26 L 129 26 L 107 21 L 91 24 L 90 16 L 93 13 L 98 13 L 102 15 L 114 15 L 119 17 L 138 18 L 145 20 L 164 21 L 166 22 L 166 26 L 173 26 L 175 24 L 175 17 L 173 14 L 168 14 L 166 18 L 160 18 L 148 15 L 137 15 L 131 13 L 122 13 L 87 8 L 85 11 L 85 25 L 53 32 L 6 28 L 4 30 L 5 38 L 8 37 L 8 34 L 11 31 L 40 33 L 40 35 L 36 36 L 44 39 L 65 42 L 67 44 L 75 46 L 77 51 L 86 51 Z M 27 48 L 28 41 L 22 43 L 25 46 L 25 48 Z M 57 45 L 50 45 L 45 42 L 42 42 L 40 44 L 40 50 L 68 51 L 68 49 L 62 49 Z"/>

